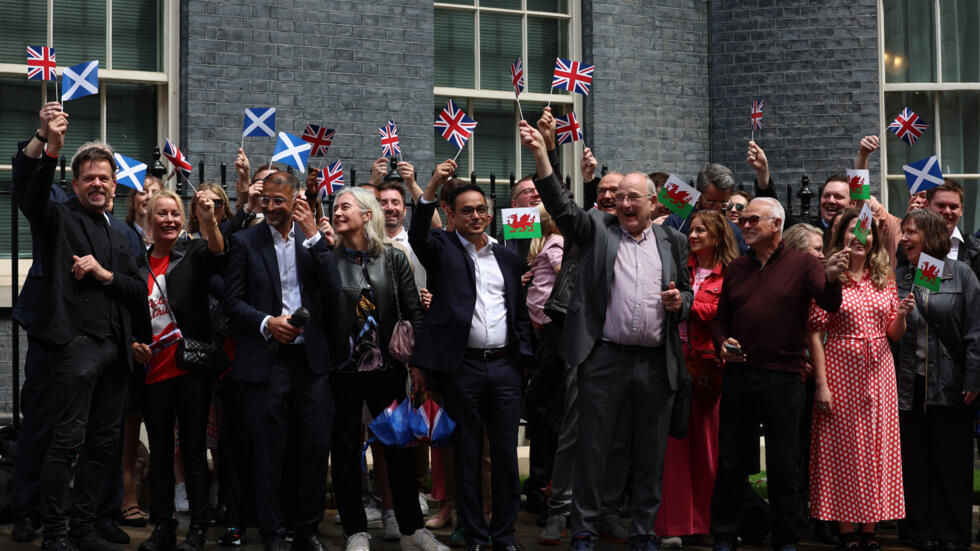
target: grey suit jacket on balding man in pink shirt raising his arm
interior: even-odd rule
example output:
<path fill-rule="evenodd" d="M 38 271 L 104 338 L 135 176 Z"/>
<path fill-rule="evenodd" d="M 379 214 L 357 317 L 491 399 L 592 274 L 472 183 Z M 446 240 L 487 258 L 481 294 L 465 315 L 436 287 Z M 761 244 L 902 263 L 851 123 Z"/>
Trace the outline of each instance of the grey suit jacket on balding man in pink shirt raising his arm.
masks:
<path fill-rule="evenodd" d="M 589 212 L 582 210 L 562 189 L 554 174 L 535 180 L 534 185 L 566 241 L 574 241 L 582 251 L 578 279 L 568 303 L 561 342 L 561 353 L 565 361 L 578 365 L 588 358 L 602 336 L 613 266 L 622 230 L 619 219 L 615 216 L 597 209 Z M 684 269 L 688 254 L 687 240 L 676 230 L 656 224 L 653 225 L 653 234 L 657 238 L 663 265 L 663 289 L 667 290 L 673 281 L 683 298 L 680 311 L 666 312 L 664 321 L 667 374 L 671 389 L 677 390 L 677 381 L 684 368 L 677 324 L 687 319 L 694 301 L 691 282 L 687 270 Z"/>

